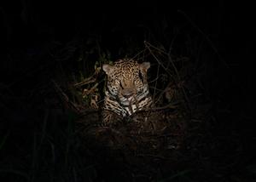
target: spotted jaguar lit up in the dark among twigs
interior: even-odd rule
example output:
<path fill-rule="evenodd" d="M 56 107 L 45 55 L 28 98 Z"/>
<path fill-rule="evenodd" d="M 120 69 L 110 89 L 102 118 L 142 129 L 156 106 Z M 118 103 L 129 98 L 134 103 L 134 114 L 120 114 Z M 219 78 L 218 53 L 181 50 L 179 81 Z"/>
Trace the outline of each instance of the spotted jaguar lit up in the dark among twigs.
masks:
<path fill-rule="evenodd" d="M 152 105 L 147 81 L 149 67 L 149 62 L 138 63 L 132 59 L 102 65 L 107 75 L 102 108 L 103 125 L 119 122 Z"/>

